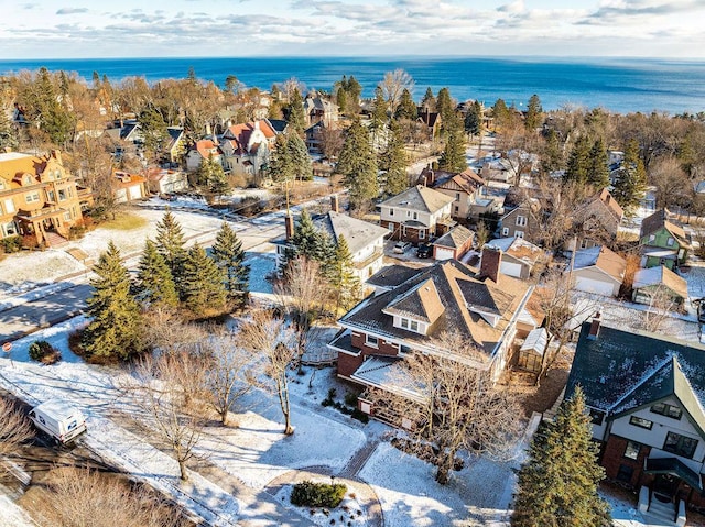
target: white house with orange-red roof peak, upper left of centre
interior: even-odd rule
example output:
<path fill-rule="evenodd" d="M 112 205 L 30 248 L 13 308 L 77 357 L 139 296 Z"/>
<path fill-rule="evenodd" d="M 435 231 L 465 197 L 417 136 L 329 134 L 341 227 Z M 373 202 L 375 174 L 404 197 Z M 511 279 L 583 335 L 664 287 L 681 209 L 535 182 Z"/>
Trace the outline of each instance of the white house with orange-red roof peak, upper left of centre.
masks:
<path fill-rule="evenodd" d="M 275 140 L 267 119 L 228 127 L 219 144 L 223 167 L 232 174 L 258 175 L 269 164 Z"/>

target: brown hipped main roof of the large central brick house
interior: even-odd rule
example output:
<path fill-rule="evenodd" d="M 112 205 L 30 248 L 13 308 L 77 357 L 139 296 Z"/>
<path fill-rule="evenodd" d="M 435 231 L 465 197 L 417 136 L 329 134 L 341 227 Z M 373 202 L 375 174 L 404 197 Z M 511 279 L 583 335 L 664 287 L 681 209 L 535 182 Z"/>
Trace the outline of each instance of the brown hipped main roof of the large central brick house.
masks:
<path fill-rule="evenodd" d="M 388 306 L 401 301 L 422 284 L 429 284 L 429 281 L 433 283 L 444 309 L 426 334 L 393 327 L 392 316 L 384 312 Z M 519 312 L 529 290 L 529 285 L 509 276 L 502 275 L 500 284 L 479 279 L 469 267 L 455 260 L 446 260 L 415 270 L 399 286 L 366 298 L 340 319 L 340 325 L 403 340 L 410 345 L 429 348 L 436 347 L 436 339 L 448 331 L 476 342 L 489 356 L 501 341 L 512 317 Z M 477 309 L 473 310 L 469 306 L 476 306 Z M 497 316 L 497 322 L 490 325 L 477 310 L 486 314 L 491 310 Z"/>

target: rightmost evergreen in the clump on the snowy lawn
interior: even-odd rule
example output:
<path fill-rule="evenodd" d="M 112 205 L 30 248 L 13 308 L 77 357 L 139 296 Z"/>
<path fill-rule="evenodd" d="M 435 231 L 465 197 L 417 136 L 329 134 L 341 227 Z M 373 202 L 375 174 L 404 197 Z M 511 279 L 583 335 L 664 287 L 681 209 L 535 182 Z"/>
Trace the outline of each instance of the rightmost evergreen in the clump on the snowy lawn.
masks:
<path fill-rule="evenodd" d="M 250 266 L 245 264 L 242 242 L 226 222 L 223 223 L 213 244 L 213 260 L 225 274 L 225 289 L 228 300 L 238 308 L 249 299 Z"/>

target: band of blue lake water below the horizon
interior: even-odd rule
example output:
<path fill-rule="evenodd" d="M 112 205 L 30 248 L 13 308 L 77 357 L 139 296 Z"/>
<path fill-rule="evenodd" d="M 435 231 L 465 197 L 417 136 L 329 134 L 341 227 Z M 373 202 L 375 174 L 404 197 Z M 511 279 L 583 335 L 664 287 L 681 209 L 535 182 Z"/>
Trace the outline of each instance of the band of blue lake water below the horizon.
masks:
<path fill-rule="evenodd" d="M 547 57 L 248 57 L 248 58 L 85 58 L 0 61 L 0 75 L 45 66 L 76 72 L 90 80 L 93 72 L 112 81 L 143 76 L 150 83 L 184 78 L 193 67 L 198 78 L 223 86 L 235 75 L 247 87 L 269 89 L 291 77 L 306 88 L 330 90 L 343 75 L 354 75 L 370 97 L 386 72 L 406 70 L 415 81 L 414 99 L 426 87 L 434 92 L 448 87 L 458 100 L 479 99 L 492 105 L 502 98 L 508 105 L 525 105 L 538 94 L 545 109 L 566 105 L 603 107 L 611 111 L 671 114 L 705 110 L 705 62 L 643 58 Z"/>

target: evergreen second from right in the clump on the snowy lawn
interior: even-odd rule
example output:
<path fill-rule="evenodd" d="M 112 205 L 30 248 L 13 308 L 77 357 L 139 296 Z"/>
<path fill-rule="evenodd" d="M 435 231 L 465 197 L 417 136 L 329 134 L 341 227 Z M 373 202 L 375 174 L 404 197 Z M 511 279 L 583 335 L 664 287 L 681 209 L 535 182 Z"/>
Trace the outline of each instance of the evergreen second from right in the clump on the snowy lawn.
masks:
<path fill-rule="evenodd" d="M 184 305 L 194 315 L 203 317 L 223 311 L 226 301 L 224 272 L 200 245 L 194 245 L 186 253 L 183 276 Z"/>

